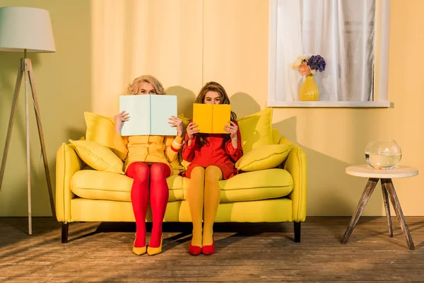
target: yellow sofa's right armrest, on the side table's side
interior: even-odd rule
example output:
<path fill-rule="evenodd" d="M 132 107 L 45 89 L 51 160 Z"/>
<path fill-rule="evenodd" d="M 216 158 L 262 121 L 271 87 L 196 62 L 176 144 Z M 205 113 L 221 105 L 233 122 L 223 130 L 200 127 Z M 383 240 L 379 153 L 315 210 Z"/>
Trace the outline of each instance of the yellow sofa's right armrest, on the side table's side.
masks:
<path fill-rule="evenodd" d="M 279 144 L 291 144 L 290 141 L 282 137 Z M 307 161 L 305 152 L 293 144 L 283 168 L 293 177 L 293 191 L 290 192 L 290 200 L 293 201 L 293 221 L 305 221 L 306 200 L 307 200 Z"/>

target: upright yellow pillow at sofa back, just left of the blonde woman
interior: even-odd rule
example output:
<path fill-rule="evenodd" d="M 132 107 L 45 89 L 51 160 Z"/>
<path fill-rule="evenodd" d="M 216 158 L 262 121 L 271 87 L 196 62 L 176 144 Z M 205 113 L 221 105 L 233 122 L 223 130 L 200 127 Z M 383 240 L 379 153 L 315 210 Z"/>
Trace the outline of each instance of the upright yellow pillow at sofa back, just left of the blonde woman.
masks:
<path fill-rule="evenodd" d="M 86 118 L 86 140 L 95 141 L 102 146 L 114 148 L 114 120 L 91 112 L 84 112 Z"/>

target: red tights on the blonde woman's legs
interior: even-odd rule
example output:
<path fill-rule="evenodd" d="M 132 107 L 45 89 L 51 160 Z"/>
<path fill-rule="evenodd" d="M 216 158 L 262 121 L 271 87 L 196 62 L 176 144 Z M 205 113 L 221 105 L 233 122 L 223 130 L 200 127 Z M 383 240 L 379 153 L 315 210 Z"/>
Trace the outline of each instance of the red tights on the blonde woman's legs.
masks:
<path fill-rule="evenodd" d="M 153 214 L 152 235 L 149 246 L 158 248 L 162 237 L 162 222 L 169 197 L 166 178 L 171 175 L 170 167 L 165 163 L 154 163 L 150 167 L 143 162 L 131 163 L 126 175 L 134 179 L 131 187 L 131 203 L 136 218 L 136 242 L 134 247 L 146 246 L 146 212 L 149 200 Z"/>

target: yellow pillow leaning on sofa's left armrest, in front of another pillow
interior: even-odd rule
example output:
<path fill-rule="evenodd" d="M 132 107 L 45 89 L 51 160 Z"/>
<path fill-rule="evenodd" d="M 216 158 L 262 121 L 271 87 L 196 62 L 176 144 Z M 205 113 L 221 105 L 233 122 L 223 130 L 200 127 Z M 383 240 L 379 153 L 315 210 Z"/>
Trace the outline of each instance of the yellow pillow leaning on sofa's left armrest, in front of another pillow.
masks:
<path fill-rule="evenodd" d="M 111 149 L 95 141 L 73 141 L 69 139 L 78 156 L 91 168 L 98 171 L 124 174 L 124 163 Z"/>

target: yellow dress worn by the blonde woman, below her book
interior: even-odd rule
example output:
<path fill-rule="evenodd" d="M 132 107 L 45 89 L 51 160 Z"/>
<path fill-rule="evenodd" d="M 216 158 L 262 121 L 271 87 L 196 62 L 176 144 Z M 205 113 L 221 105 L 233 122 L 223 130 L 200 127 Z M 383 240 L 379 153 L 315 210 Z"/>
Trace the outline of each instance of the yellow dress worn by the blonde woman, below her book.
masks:
<path fill-rule="evenodd" d="M 114 151 L 124 161 L 124 172 L 136 161 L 146 163 L 163 162 L 170 166 L 182 148 L 182 137 L 169 136 L 129 136 L 114 134 Z"/>

